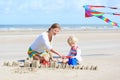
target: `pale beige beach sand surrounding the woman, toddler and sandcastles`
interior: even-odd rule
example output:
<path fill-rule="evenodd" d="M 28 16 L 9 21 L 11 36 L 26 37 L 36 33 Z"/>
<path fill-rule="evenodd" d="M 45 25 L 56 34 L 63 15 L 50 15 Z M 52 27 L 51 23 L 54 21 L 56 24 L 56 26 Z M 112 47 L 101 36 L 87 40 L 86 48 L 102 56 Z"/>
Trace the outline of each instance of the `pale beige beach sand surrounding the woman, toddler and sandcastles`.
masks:
<path fill-rule="evenodd" d="M 4 61 L 17 61 L 28 57 L 27 50 L 34 39 L 45 30 L 0 31 L 1 80 L 119 80 L 119 30 L 62 30 L 53 40 L 53 47 L 66 55 L 70 49 L 67 38 L 75 35 L 82 50 L 82 65 L 97 65 L 97 70 L 39 69 L 30 73 L 14 73 Z"/>

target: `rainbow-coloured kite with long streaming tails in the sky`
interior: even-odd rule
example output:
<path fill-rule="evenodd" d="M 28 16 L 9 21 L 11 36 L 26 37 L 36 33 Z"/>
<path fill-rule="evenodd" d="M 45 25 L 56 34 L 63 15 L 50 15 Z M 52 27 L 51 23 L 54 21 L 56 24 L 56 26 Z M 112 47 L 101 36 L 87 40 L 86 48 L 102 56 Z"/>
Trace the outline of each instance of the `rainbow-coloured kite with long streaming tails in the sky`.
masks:
<path fill-rule="evenodd" d="M 107 6 L 92 6 L 92 5 L 85 5 L 83 7 L 85 8 L 85 17 L 86 18 L 87 17 L 95 16 L 97 18 L 100 18 L 100 19 L 104 20 L 107 23 L 112 24 L 113 26 L 120 27 L 118 25 L 118 23 L 113 22 L 113 21 L 111 21 L 108 18 L 106 18 L 106 17 L 103 16 L 104 14 L 110 14 L 110 15 L 120 16 L 120 14 L 118 14 L 118 13 L 110 13 L 110 12 L 99 12 L 99 11 L 94 10 L 94 8 L 110 8 L 110 9 L 119 9 L 119 8 L 116 8 L 116 7 L 107 7 Z"/>

